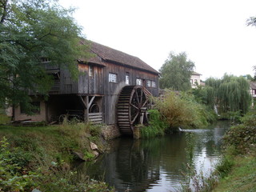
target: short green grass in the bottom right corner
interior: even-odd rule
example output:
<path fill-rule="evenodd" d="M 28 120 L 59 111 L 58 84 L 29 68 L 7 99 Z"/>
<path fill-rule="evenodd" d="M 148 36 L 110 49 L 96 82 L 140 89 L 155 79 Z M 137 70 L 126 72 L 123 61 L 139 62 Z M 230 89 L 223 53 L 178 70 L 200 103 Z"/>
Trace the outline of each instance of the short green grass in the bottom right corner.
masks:
<path fill-rule="evenodd" d="M 234 158 L 233 170 L 221 178 L 214 192 L 253 192 L 256 191 L 256 158 L 255 155 Z"/>

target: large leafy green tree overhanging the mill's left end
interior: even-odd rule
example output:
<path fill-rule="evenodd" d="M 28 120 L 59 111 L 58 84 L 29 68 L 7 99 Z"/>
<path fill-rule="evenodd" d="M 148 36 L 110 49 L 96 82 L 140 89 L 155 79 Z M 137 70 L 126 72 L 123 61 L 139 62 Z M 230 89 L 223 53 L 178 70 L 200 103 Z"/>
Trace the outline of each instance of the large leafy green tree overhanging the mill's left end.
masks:
<path fill-rule="evenodd" d="M 85 58 L 86 46 L 73 12 L 51 0 L 0 1 L 0 108 L 6 102 L 28 104 L 29 90 L 47 94 L 53 81 L 42 58 L 78 74 L 77 59 Z"/>

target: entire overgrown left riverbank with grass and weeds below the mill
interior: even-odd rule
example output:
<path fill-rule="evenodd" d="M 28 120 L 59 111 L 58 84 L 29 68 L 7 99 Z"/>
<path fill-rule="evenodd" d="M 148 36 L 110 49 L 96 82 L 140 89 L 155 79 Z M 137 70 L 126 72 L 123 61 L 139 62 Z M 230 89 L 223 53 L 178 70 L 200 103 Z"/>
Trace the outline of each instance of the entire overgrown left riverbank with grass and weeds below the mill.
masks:
<path fill-rule="evenodd" d="M 110 191 L 70 168 L 78 157 L 95 158 L 91 142 L 102 153 L 99 126 L 0 126 L 0 141 L 0 191 Z"/>

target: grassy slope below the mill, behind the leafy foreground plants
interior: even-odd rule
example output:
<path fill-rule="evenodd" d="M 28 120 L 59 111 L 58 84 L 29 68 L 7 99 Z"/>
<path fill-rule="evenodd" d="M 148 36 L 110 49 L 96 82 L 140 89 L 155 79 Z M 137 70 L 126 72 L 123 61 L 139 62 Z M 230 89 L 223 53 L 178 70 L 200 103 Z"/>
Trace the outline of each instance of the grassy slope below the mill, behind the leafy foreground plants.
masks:
<path fill-rule="evenodd" d="M 74 158 L 73 151 L 81 154 L 91 152 L 90 141 L 98 142 L 99 148 L 103 150 L 97 129 L 84 123 L 60 126 L 0 126 L 0 138 L 5 136 L 11 147 L 31 151 L 38 156 L 34 158 L 44 159 L 46 164 L 60 160 L 70 162 Z M 90 136 L 86 137 L 86 133 Z"/>

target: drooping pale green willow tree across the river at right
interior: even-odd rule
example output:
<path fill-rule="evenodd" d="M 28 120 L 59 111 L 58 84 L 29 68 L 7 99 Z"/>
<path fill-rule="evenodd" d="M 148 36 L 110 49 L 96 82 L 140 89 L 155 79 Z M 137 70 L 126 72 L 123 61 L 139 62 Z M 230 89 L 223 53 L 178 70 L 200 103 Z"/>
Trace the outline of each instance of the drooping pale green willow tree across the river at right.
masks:
<path fill-rule="evenodd" d="M 208 104 L 218 106 L 222 113 L 241 111 L 242 114 L 246 114 L 249 110 L 250 84 L 242 76 L 225 74 L 222 79 L 209 78 L 206 80 L 206 89 Z"/>

